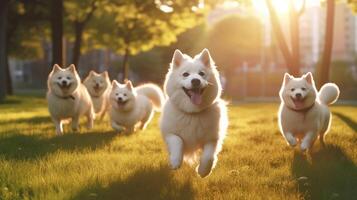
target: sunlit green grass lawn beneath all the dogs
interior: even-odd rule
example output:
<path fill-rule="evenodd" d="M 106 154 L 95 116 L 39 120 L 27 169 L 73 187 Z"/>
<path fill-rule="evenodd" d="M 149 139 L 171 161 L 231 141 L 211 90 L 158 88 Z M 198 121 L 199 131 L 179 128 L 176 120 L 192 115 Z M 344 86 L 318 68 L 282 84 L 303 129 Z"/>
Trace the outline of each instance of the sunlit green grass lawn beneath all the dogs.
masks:
<path fill-rule="evenodd" d="M 357 197 L 357 107 L 333 106 L 327 147 L 304 157 L 277 129 L 277 104 L 230 106 L 217 167 L 172 171 L 158 129 L 117 135 L 108 119 L 55 136 L 46 101 L 0 105 L 0 199 L 353 199 Z"/>

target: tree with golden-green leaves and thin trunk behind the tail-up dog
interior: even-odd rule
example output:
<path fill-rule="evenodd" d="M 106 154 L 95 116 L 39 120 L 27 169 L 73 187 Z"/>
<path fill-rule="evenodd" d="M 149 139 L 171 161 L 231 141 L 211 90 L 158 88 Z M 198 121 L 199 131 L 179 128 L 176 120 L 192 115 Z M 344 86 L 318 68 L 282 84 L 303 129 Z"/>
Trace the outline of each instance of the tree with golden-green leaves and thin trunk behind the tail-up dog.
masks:
<path fill-rule="evenodd" d="M 176 36 L 202 20 L 202 12 L 192 11 L 197 2 L 181 0 L 166 5 L 150 0 L 108 1 L 105 12 L 98 12 L 96 29 L 92 30 L 97 44 L 108 46 L 123 55 L 123 80 L 128 78 L 130 56 L 155 46 L 165 46 Z"/>

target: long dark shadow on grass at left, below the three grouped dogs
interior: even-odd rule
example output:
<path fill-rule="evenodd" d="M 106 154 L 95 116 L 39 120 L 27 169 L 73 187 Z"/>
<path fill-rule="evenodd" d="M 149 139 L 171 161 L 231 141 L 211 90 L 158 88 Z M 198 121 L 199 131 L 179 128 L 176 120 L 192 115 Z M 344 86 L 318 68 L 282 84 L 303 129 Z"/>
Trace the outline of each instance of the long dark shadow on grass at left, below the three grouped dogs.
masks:
<path fill-rule="evenodd" d="M 67 133 L 51 138 L 39 135 L 14 135 L 0 139 L 0 156 L 6 159 L 27 160 L 56 151 L 95 150 L 112 141 L 116 135 L 113 132 Z"/>

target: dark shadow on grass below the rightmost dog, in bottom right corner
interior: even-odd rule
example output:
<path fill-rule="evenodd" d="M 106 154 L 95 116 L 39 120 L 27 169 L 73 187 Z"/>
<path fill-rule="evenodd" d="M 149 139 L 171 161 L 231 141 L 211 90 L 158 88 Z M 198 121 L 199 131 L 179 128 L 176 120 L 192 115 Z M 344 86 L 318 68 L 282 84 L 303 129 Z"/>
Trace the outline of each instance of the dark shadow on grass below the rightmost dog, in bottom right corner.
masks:
<path fill-rule="evenodd" d="M 311 162 L 295 153 L 292 174 L 304 199 L 357 197 L 357 166 L 338 146 L 327 145 L 312 153 Z"/>

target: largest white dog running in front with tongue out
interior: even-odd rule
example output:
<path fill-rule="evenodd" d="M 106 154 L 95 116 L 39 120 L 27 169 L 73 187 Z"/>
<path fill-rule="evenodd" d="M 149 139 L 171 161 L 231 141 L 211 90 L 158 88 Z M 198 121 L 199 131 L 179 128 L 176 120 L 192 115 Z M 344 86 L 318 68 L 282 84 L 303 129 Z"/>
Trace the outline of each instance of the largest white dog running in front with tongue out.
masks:
<path fill-rule="evenodd" d="M 168 100 L 160 128 L 171 167 L 179 168 L 183 158 L 195 160 L 202 150 L 197 172 L 205 177 L 215 166 L 228 126 L 219 73 L 208 50 L 194 58 L 176 50 L 164 88 Z"/>

